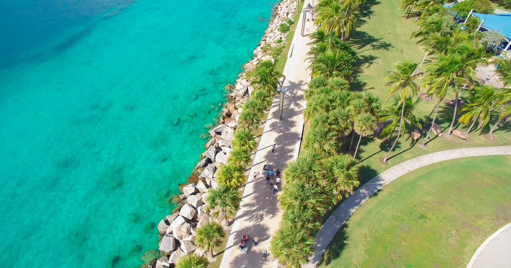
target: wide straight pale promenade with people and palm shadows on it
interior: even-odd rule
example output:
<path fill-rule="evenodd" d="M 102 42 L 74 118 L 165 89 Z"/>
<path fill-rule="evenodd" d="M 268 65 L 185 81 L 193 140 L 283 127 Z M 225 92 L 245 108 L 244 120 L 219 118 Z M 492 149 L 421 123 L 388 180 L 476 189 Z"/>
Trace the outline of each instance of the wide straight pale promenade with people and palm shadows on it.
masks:
<path fill-rule="evenodd" d="M 310 18 L 310 10 L 304 9 L 307 18 Z M 221 268 L 226 267 L 272 267 L 276 265 L 272 260 L 271 253 L 266 260 L 263 260 L 262 252 L 269 251 L 270 239 L 273 233 L 278 229 L 282 211 L 278 208 L 278 192 L 273 195 L 273 189 L 266 184 L 262 177 L 254 177 L 256 173 L 262 173 L 263 165 L 270 164 L 271 169 L 283 168 L 298 156 L 301 144 L 301 135 L 304 129 L 305 109 L 304 89 L 310 80 L 307 70 L 309 62 L 307 52 L 310 46 L 308 36 L 302 37 L 301 21 L 303 15 L 297 23 L 297 31 L 293 36 L 291 50 L 286 66 L 284 67 L 283 88 L 286 88 L 284 98 L 283 120 L 278 121 L 278 103 L 279 96 L 275 96 L 270 108 L 268 119 L 266 120 L 263 135 L 259 143 L 259 148 L 254 156 L 254 162 L 250 169 L 248 182 L 243 192 L 240 209 L 236 215 L 233 228 L 231 229 L 227 246 L 220 263 Z M 306 27 L 312 33 L 315 27 L 312 20 L 307 21 Z M 276 144 L 275 152 L 271 152 L 272 144 Z M 279 185 L 279 189 L 280 190 Z M 242 253 L 238 244 L 241 237 L 249 234 L 250 238 L 258 236 L 260 243 L 253 247 L 250 240 L 248 252 Z"/>

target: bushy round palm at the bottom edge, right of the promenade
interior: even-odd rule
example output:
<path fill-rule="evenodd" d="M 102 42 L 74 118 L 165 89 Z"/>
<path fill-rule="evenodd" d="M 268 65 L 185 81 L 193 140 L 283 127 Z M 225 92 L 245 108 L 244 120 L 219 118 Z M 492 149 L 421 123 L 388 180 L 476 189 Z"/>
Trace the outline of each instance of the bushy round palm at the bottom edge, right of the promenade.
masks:
<path fill-rule="evenodd" d="M 314 237 L 296 225 L 282 226 L 270 242 L 270 251 L 278 262 L 288 268 L 309 263 L 314 253 Z"/>

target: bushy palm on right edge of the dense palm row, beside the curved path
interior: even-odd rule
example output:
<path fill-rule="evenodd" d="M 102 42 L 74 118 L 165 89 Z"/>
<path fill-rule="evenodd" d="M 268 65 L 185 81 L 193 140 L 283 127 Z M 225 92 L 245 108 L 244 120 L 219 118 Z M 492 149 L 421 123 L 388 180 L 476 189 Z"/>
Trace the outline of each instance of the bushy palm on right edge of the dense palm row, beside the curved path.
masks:
<path fill-rule="evenodd" d="M 350 155 L 336 155 L 323 160 L 323 167 L 327 170 L 327 180 L 337 194 L 337 199 L 349 197 L 353 189 L 360 185 L 358 181 L 359 167 L 357 161 Z"/>

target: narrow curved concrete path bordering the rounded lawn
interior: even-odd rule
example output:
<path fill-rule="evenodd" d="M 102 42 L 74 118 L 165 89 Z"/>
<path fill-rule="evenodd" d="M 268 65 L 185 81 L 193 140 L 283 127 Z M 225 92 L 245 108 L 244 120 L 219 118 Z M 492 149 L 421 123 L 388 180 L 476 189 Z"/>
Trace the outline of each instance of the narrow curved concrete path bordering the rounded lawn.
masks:
<path fill-rule="evenodd" d="M 321 259 L 321 256 L 327 249 L 330 241 L 335 236 L 337 231 L 339 231 L 344 222 L 346 222 L 351 214 L 353 214 L 353 212 L 355 212 L 355 210 L 357 210 L 357 208 L 362 205 L 362 203 L 364 203 L 367 199 L 373 196 L 374 193 L 376 193 L 391 181 L 417 168 L 445 160 L 471 156 L 507 154 L 511 154 L 511 146 L 455 149 L 419 156 L 396 166 L 390 167 L 380 175 L 374 177 L 362 185 L 360 188 L 358 188 L 355 193 L 344 200 L 342 204 L 334 211 L 334 213 L 332 213 L 327 222 L 318 231 L 316 235 L 316 242 L 314 243 L 314 248 L 316 251 L 310 258 L 311 262 L 305 267 L 316 267 L 316 264 Z"/>

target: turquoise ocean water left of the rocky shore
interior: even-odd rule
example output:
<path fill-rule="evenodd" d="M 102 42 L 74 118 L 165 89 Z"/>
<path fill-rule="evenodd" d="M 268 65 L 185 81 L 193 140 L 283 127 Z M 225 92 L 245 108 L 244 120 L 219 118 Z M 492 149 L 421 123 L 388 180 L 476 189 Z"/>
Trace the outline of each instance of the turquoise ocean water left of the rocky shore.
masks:
<path fill-rule="evenodd" d="M 157 249 L 274 2 L 0 2 L 0 267 Z"/>

